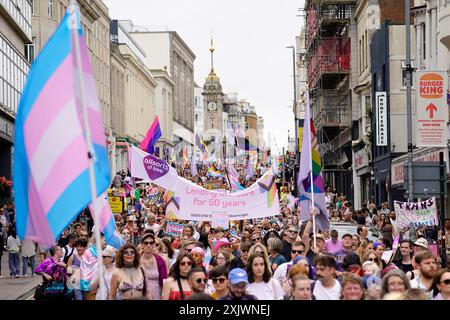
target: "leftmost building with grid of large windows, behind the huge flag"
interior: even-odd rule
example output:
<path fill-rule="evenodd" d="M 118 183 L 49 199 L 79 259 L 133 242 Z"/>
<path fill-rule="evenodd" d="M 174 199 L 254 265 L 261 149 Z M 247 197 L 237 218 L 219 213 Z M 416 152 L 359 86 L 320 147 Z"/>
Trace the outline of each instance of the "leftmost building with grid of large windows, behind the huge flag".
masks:
<path fill-rule="evenodd" d="M 0 177 L 12 179 L 14 123 L 30 69 L 31 1 L 0 1 Z M 7 195 L 0 195 L 2 198 Z"/>

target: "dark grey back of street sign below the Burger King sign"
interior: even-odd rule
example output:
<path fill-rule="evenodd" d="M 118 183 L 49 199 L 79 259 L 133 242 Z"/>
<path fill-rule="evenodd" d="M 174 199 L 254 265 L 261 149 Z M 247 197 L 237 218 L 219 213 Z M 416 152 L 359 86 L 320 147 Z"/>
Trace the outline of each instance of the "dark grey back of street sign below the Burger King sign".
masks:
<path fill-rule="evenodd" d="M 444 167 L 446 164 L 444 163 Z M 408 165 L 405 164 L 403 172 L 408 172 Z M 408 190 L 408 175 L 405 174 L 403 186 Z M 413 162 L 413 197 L 429 198 L 440 196 L 441 194 L 441 175 L 439 162 Z M 447 184 L 445 183 L 445 193 L 447 193 Z M 408 198 L 405 192 L 405 198 Z"/>

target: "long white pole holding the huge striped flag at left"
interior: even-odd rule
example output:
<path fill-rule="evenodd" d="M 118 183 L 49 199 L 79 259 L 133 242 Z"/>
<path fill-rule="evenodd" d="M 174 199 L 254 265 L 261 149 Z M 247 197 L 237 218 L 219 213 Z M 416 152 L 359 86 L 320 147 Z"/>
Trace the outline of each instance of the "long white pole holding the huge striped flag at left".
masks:
<path fill-rule="evenodd" d="M 95 161 L 95 153 L 94 148 L 92 146 L 91 140 L 91 131 L 89 128 L 89 118 L 87 112 L 87 101 L 86 101 L 86 90 L 84 86 L 84 77 L 83 77 L 83 65 L 81 62 L 81 50 L 80 50 L 80 42 L 78 38 L 78 27 L 81 25 L 78 24 L 78 19 L 76 13 L 81 15 L 80 8 L 77 4 L 76 0 L 70 0 L 70 28 L 72 29 L 72 39 L 73 45 L 75 48 L 75 57 L 77 61 L 77 75 L 78 81 L 80 84 L 80 95 L 81 95 L 81 108 L 83 110 L 83 123 L 84 123 L 84 132 L 86 137 L 86 144 L 88 147 L 88 161 L 89 161 L 89 180 L 91 182 L 91 195 L 92 195 L 92 207 L 94 208 L 94 224 L 95 224 L 95 241 L 97 246 L 97 261 L 98 261 L 98 277 L 99 277 L 99 291 L 100 291 L 100 300 L 105 300 L 104 293 L 105 283 L 103 281 L 103 256 L 102 256 L 102 245 L 100 241 L 100 212 L 97 208 L 97 187 L 95 184 L 95 172 L 94 172 L 94 161 Z M 81 19 L 81 16 L 80 16 Z"/>

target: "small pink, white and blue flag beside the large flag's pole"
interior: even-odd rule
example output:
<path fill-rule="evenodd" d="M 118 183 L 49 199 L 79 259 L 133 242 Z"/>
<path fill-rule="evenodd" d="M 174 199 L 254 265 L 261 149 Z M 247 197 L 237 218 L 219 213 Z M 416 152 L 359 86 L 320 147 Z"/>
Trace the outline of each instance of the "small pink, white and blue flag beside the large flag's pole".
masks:
<path fill-rule="evenodd" d="M 93 206 L 90 205 L 89 209 L 93 215 Z M 100 211 L 100 231 L 103 232 L 106 243 L 116 249 L 120 249 L 120 247 L 125 244 L 125 241 L 120 237 L 120 234 L 116 229 L 116 222 L 111 207 L 109 206 L 106 193 L 103 193 L 97 198 L 97 209 Z"/>

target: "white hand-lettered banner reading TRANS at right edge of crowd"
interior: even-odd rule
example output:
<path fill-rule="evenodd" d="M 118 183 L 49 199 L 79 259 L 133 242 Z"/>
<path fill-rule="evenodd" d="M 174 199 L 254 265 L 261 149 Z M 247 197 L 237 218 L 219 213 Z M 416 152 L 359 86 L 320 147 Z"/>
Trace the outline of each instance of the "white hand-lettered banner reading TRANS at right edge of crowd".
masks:
<path fill-rule="evenodd" d="M 394 201 L 399 228 L 434 226 L 438 224 L 436 198 L 421 202 Z"/>

